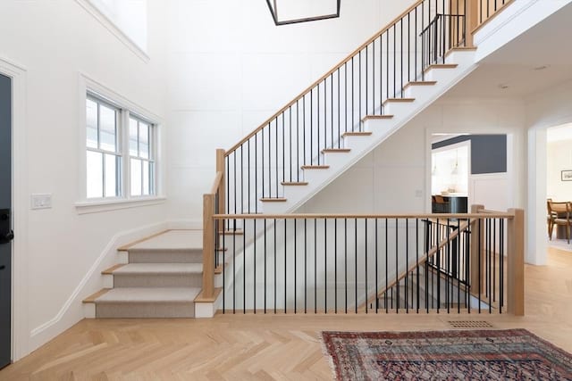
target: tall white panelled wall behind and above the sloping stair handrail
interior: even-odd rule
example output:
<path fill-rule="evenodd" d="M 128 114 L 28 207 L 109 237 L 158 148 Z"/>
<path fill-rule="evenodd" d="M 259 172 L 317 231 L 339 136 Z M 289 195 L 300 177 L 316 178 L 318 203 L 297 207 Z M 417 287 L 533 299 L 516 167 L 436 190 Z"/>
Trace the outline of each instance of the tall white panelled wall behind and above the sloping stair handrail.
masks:
<path fill-rule="evenodd" d="M 200 219 L 216 148 L 238 143 L 412 3 L 348 1 L 340 19 L 275 27 L 264 1 L 171 0 L 170 218 Z"/>

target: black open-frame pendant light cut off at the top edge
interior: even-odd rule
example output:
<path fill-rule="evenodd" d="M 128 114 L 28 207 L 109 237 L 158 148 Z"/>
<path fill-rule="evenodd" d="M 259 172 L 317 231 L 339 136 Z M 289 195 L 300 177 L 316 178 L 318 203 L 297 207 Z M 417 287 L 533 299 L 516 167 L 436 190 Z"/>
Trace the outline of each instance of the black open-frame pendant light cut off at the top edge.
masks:
<path fill-rule="evenodd" d="M 340 17 L 341 0 L 266 0 L 266 4 L 276 26 Z"/>

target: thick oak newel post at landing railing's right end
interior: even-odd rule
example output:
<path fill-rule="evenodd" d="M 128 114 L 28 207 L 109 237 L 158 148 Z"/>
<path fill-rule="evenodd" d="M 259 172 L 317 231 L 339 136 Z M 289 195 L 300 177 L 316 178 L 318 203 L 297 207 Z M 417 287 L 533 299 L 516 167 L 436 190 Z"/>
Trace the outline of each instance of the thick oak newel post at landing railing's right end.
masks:
<path fill-rule="evenodd" d="M 525 211 L 509 209 L 514 215 L 507 224 L 507 277 L 509 313 L 516 316 L 525 314 Z"/>

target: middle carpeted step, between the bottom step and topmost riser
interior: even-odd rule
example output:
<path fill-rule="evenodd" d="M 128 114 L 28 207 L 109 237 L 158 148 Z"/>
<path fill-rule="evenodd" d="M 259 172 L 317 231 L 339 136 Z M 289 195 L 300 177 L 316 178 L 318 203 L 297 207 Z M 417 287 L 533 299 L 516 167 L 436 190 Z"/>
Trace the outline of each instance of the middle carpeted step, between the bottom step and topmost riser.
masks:
<path fill-rule="evenodd" d="M 201 287 L 201 263 L 130 263 L 111 273 L 114 287 Z"/>

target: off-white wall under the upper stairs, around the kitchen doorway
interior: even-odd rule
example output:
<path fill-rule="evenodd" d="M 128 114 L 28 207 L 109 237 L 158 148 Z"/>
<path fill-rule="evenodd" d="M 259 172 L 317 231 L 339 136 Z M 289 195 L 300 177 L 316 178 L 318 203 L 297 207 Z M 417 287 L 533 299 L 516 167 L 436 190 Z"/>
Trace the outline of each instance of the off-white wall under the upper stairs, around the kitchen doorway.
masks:
<path fill-rule="evenodd" d="M 407 213 L 431 211 L 431 135 L 508 134 L 509 186 L 496 197 L 474 182 L 470 203 L 523 207 L 526 154 L 524 104 L 517 100 L 442 99 L 416 116 L 302 208 L 306 212 Z M 407 147 L 407 148 L 406 148 Z M 488 192 L 488 191 L 487 191 Z M 499 203 L 505 200 L 504 203 Z"/>

